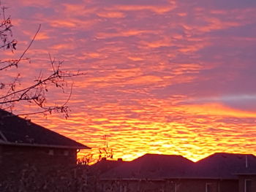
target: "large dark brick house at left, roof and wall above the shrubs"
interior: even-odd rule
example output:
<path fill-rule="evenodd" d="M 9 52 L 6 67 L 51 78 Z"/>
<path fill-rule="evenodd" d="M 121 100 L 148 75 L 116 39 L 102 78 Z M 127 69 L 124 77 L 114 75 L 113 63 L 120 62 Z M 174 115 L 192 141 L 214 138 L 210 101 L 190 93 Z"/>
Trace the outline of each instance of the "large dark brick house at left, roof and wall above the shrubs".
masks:
<path fill-rule="evenodd" d="M 14 169 L 24 164 L 74 165 L 80 149 L 89 147 L 0 110 L 1 169 Z"/>

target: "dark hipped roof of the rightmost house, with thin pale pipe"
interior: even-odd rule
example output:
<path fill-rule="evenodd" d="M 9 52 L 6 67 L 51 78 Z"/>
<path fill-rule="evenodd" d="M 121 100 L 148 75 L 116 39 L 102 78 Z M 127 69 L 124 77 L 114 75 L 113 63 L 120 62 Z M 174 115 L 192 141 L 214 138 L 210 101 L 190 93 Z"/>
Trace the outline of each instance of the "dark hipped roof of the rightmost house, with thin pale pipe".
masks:
<path fill-rule="evenodd" d="M 195 163 L 195 177 L 236 179 L 237 174 L 255 174 L 256 157 L 252 154 L 214 153 Z"/>

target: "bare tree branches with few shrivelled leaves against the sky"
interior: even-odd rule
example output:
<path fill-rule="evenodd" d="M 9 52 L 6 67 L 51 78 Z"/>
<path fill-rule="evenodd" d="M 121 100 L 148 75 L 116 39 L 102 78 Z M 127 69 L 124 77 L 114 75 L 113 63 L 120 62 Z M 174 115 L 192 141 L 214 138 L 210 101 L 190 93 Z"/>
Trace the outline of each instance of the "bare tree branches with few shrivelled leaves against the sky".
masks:
<path fill-rule="evenodd" d="M 12 37 L 12 20 L 6 16 L 6 7 L 1 6 L 0 12 L 0 50 L 1 51 L 11 51 L 16 50 L 18 41 Z M 14 73 L 15 77 L 11 81 L 1 80 L 0 79 L 0 109 L 1 110 L 10 110 L 15 107 L 16 104 L 19 104 L 23 101 L 27 101 L 31 104 L 34 104 L 37 107 L 37 111 L 26 112 L 19 115 L 30 115 L 30 114 L 51 114 L 52 112 L 61 112 L 65 115 L 65 118 L 68 117 L 69 107 L 67 103 L 70 99 L 72 93 L 72 85 L 67 84 L 67 78 L 76 77 L 83 75 L 83 72 L 67 72 L 61 69 L 61 64 L 63 61 L 56 61 L 49 54 L 49 63 L 51 66 L 51 72 L 46 77 L 40 73 L 38 77 L 30 82 L 30 85 L 23 85 L 20 82 L 20 77 L 23 75 L 19 71 L 19 66 L 23 62 L 29 62 L 30 59 L 26 58 L 25 55 L 32 43 L 39 33 L 40 27 L 37 29 L 37 32 L 34 34 L 34 37 L 31 39 L 28 47 L 23 50 L 23 53 L 19 58 L 10 58 L 0 60 L 0 77 L 3 74 Z M 3 75 L 4 76 L 4 75 Z M 67 101 L 64 101 L 63 104 L 46 104 L 46 93 L 48 92 L 48 87 L 59 88 L 60 91 L 64 93 L 65 89 L 69 88 L 69 96 Z"/>

